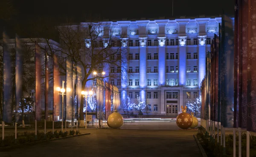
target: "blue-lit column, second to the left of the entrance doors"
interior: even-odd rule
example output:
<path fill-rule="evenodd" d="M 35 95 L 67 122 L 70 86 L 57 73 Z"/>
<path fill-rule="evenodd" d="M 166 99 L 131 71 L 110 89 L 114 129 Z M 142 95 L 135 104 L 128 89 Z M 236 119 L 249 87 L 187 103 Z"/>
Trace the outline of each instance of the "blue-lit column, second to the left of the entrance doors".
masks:
<path fill-rule="evenodd" d="M 140 40 L 140 97 L 146 98 L 146 42 L 147 37 L 139 37 Z"/>

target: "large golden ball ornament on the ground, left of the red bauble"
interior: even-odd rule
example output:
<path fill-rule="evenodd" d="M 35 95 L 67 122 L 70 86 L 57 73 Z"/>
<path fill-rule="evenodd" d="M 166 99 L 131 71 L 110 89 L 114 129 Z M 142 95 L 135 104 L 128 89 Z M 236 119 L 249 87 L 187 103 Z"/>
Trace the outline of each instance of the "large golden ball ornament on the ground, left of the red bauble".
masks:
<path fill-rule="evenodd" d="M 108 116 L 108 126 L 110 128 L 120 128 L 124 123 L 124 119 L 121 114 L 117 111 L 113 112 Z"/>

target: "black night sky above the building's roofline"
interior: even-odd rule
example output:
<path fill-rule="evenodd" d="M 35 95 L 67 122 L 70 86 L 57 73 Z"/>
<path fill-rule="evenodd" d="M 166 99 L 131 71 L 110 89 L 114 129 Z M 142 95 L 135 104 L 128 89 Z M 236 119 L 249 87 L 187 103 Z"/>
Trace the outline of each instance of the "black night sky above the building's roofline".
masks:
<path fill-rule="evenodd" d="M 19 18 L 38 16 L 59 17 L 71 16 L 76 22 L 84 22 L 85 14 L 93 14 L 101 19 L 120 20 L 140 19 L 140 17 L 172 17 L 172 0 L 14 0 Z M 222 9 L 234 14 L 234 0 L 174 0 L 174 16 L 199 14 L 217 15 Z"/>

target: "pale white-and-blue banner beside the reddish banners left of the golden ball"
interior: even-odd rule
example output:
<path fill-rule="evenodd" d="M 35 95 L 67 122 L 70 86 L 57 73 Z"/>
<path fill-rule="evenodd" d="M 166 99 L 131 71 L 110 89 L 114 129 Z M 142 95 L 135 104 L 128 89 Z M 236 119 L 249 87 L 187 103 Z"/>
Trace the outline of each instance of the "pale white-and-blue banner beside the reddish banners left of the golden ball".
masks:
<path fill-rule="evenodd" d="M 102 80 L 97 78 L 97 107 L 96 107 L 96 118 L 103 120 L 102 112 L 104 106 L 104 83 Z"/>

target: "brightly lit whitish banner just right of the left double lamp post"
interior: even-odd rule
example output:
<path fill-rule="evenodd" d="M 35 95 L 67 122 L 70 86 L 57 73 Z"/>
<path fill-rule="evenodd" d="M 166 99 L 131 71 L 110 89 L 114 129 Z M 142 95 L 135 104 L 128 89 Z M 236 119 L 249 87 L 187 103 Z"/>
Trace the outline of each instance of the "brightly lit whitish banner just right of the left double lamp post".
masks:
<path fill-rule="evenodd" d="M 66 120 L 72 120 L 73 117 L 73 106 L 72 106 L 72 96 L 73 96 L 73 67 L 72 62 L 66 59 Z"/>

